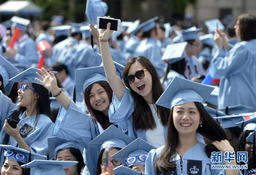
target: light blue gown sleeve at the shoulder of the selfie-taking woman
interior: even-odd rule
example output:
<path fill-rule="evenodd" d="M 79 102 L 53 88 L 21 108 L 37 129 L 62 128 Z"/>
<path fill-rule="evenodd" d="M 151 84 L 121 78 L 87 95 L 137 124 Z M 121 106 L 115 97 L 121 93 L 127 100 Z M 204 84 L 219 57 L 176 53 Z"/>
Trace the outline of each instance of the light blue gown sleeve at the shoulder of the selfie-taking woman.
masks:
<path fill-rule="evenodd" d="M 128 119 L 132 118 L 134 111 L 134 99 L 129 92 L 125 89 L 124 95 L 119 102 L 116 95 L 113 94 L 112 103 L 109 106 L 109 120 L 111 123 L 116 123 L 122 129 L 128 129 Z"/>

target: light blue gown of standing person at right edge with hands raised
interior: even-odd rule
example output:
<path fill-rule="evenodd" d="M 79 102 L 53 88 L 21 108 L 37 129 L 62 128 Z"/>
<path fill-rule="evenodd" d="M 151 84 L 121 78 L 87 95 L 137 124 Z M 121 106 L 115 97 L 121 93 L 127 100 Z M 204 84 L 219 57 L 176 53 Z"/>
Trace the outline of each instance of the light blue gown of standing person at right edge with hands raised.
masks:
<path fill-rule="evenodd" d="M 218 108 L 243 104 L 256 108 L 256 39 L 237 43 L 226 56 L 216 52 L 209 73 L 221 77 Z"/>

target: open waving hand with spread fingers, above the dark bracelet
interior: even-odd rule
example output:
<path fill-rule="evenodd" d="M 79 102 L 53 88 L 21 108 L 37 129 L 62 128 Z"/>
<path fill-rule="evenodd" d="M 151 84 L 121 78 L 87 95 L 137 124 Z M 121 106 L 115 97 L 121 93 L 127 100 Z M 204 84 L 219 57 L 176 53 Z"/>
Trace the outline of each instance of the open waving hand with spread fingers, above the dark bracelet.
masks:
<path fill-rule="evenodd" d="M 57 86 L 57 79 L 55 75 L 50 71 L 49 73 L 42 67 L 42 69 L 38 69 L 41 73 L 36 72 L 39 78 L 35 78 L 36 81 L 40 82 L 46 89 L 48 89 L 52 94 L 57 94 L 60 91 L 60 88 Z"/>

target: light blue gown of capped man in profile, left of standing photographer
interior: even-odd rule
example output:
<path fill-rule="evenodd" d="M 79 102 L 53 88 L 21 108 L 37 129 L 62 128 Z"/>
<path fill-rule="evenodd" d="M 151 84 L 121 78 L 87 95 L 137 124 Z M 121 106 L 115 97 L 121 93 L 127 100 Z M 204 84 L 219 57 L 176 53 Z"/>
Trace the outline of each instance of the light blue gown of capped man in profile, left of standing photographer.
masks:
<path fill-rule="evenodd" d="M 189 67 L 188 70 L 185 70 L 184 74 L 187 76 L 189 75 L 189 79 L 191 80 L 193 77 L 196 77 L 198 75 L 202 76 L 205 75 L 203 70 L 202 63 L 198 60 L 196 56 L 191 56 L 189 58 L 187 56 L 187 62 L 186 65 Z"/>

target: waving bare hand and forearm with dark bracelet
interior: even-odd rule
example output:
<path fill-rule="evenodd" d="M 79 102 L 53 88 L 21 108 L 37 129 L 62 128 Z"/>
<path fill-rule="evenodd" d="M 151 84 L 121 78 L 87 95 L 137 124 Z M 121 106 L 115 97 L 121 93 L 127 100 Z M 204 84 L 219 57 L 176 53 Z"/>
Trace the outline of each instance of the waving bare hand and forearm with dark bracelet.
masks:
<path fill-rule="evenodd" d="M 38 69 L 38 72 L 36 73 L 41 80 L 38 78 L 35 78 L 38 82 L 40 82 L 43 86 L 45 86 L 46 89 L 48 89 L 53 95 L 57 95 L 60 93 L 60 88 L 57 86 L 57 80 L 55 75 L 52 72 L 47 72 L 45 68 Z M 58 97 L 56 97 L 56 100 L 60 103 L 60 105 L 68 110 L 69 104 L 70 104 L 70 98 L 66 96 L 64 93 L 60 93 Z"/>

